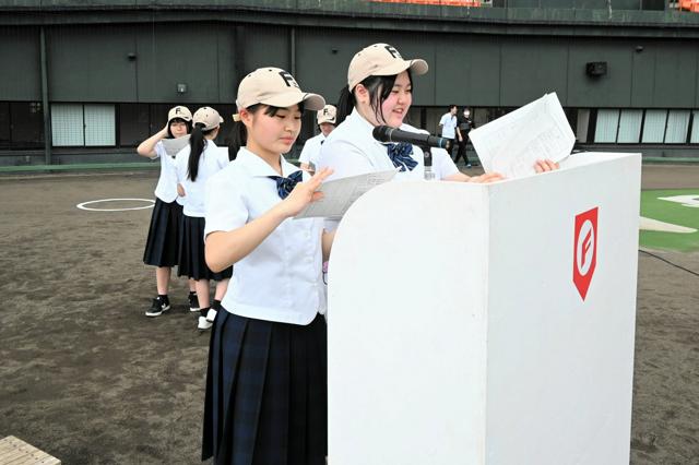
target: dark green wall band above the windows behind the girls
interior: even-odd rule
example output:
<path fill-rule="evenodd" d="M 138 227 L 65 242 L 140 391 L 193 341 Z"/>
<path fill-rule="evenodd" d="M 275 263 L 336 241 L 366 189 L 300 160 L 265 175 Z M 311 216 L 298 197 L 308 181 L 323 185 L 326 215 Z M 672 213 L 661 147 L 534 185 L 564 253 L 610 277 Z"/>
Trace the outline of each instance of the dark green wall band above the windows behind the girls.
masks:
<path fill-rule="evenodd" d="M 430 65 L 414 105 L 517 107 L 555 91 L 567 107 L 699 107 L 699 39 L 511 37 L 228 24 L 80 25 L 47 28 L 51 102 L 233 103 L 262 65 L 291 70 L 334 102 L 353 55 L 387 41 Z M 0 33 L 0 100 L 39 100 L 38 28 Z M 639 48 L 642 47 L 642 50 Z M 132 58 L 129 56 L 132 55 Z M 605 61 L 590 78 L 585 63 Z M 21 79 L 17 79 L 21 76 Z M 178 94 L 177 84 L 187 84 Z"/>

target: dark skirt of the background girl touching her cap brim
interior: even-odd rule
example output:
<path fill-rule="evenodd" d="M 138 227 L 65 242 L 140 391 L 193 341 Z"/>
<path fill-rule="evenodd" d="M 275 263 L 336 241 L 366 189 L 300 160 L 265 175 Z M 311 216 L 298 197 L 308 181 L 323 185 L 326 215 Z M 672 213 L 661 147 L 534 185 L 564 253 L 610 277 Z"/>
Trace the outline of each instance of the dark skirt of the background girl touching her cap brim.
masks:
<path fill-rule="evenodd" d="M 149 238 L 143 251 L 143 263 L 153 266 L 175 266 L 178 264 L 181 219 L 182 205 L 175 201 L 165 203 L 155 198 Z"/>

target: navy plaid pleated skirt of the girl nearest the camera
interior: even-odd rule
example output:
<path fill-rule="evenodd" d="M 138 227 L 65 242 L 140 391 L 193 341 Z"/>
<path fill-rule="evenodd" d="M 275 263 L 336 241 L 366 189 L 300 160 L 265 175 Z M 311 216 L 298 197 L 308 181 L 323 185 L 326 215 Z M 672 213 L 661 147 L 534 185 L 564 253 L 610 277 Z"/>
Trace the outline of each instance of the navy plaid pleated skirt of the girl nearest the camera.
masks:
<path fill-rule="evenodd" d="M 328 333 L 220 311 L 211 333 L 202 460 L 324 465 Z"/>

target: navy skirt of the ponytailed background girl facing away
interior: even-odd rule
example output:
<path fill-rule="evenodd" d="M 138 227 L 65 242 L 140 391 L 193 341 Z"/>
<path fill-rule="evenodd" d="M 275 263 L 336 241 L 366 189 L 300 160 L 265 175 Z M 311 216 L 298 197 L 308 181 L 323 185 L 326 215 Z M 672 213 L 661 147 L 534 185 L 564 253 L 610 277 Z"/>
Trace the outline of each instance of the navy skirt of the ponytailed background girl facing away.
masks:
<path fill-rule="evenodd" d="M 182 215 L 177 275 L 188 276 L 197 281 L 227 279 L 233 276 L 233 266 L 225 269 L 221 273 L 214 273 L 206 266 L 204 225 L 204 218 Z"/>

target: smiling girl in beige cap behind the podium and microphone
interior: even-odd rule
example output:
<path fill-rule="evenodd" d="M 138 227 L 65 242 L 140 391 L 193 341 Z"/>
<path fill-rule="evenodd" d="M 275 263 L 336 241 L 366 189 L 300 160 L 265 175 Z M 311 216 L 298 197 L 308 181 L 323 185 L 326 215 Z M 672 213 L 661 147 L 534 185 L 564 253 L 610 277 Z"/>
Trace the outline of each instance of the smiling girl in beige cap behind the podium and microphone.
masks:
<path fill-rule="evenodd" d="M 332 178 L 399 168 L 395 179 L 424 179 L 424 154 L 407 143 L 381 144 L 371 134 L 377 126 L 423 132 L 403 121 L 413 103 L 413 75 L 427 72 L 423 59 L 405 60 L 388 44 L 374 44 L 358 51 L 347 71 L 347 86 L 337 104 L 340 126 L 323 143 L 319 167 L 331 167 Z M 459 171 L 451 158 L 436 151 L 434 170 L 437 179 L 490 182 L 499 174 L 469 177 Z M 537 163 L 537 171 L 554 169 L 550 162 Z"/>

